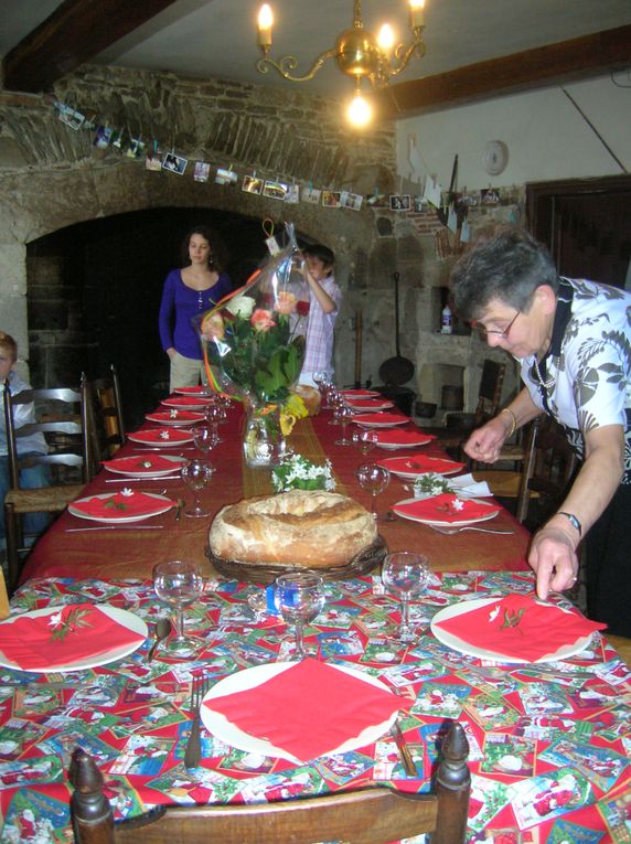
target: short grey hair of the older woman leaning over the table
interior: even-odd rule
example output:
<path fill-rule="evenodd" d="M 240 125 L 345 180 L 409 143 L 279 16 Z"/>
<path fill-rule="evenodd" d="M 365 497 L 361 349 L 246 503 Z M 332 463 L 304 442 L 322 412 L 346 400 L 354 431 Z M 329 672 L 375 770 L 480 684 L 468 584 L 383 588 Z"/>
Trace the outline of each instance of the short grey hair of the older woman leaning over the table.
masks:
<path fill-rule="evenodd" d="M 558 291 L 559 278 L 547 248 L 522 228 L 502 226 L 480 238 L 451 270 L 451 299 L 460 319 L 480 319 L 499 299 L 526 310 L 537 287 Z"/>

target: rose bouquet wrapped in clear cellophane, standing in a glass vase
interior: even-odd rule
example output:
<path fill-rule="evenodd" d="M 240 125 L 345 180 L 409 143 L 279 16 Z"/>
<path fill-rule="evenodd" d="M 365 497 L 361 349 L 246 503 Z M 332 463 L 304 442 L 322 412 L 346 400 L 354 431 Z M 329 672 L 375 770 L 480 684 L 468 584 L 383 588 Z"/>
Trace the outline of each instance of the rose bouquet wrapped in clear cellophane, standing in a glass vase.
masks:
<path fill-rule="evenodd" d="M 282 252 L 194 320 L 208 383 L 245 405 L 244 455 L 250 467 L 280 463 L 287 450 L 284 431 L 302 415 L 296 408 L 285 410 L 302 368 L 302 323 L 309 308 L 291 278 L 298 246 L 293 226 L 287 232 L 289 245 Z"/>

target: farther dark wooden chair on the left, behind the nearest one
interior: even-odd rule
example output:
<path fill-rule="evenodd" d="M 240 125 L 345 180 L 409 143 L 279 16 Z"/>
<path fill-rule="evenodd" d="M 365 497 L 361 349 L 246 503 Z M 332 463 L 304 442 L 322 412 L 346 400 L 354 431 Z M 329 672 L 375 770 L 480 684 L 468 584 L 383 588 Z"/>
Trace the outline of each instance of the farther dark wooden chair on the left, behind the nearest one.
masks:
<path fill-rule="evenodd" d="M 89 413 L 92 414 L 90 473 L 98 471 L 100 460 L 108 460 L 125 445 L 125 423 L 120 385 L 114 364 L 107 377 L 88 382 Z"/>

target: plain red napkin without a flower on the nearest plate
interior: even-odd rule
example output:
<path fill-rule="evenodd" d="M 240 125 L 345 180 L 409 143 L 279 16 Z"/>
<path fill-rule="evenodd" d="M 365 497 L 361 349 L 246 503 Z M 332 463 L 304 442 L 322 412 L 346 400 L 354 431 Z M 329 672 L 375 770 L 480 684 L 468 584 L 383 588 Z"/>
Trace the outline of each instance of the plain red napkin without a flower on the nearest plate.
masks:
<path fill-rule="evenodd" d="M 302 761 L 331 752 L 405 708 L 391 692 L 311 659 L 256 688 L 215 697 L 204 705 Z"/>

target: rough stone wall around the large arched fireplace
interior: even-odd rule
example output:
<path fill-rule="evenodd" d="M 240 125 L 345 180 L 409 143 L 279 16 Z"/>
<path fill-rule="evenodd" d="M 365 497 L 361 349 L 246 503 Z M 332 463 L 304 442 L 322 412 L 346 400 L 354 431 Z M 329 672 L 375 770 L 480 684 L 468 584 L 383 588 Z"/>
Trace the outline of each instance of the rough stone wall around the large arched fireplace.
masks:
<path fill-rule="evenodd" d="M 220 79 L 87 66 L 61 81 L 55 96 L 95 121 L 126 127 L 149 145 L 158 140 L 162 152 L 173 149 L 191 161 L 208 161 L 213 170 L 232 164 L 239 185 L 240 177 L 254 171 L 268 179 L 362 195 L 378 186 L 387 196 L 395 183 L 394 126 L 357 135 L 341 122 L 339 104 L 311 97 L 303 88 L 279 93 Z M 511 218 L 516 207 L 511 200 L 490 216 L 478 210 L 471 215 L 472 227 Z M 435 214 L 393 212 L 366 203 L 360 212 L 302 202 L 285 205 L 239 186 L 217 185 L 212 179 L 199 183 L 189 173 L 150 172 L 143 160 L 96 149 L 93 132 L 73 131 L 61 122 L 50 98 L 0 93 L 0 325 L 17 336 L 25 361 L 30 340 L 33 361 L 38 355 L 45 359 L 41 370 L 61 377 L 63 367 L 50 363 L 55 345 L 63 354 L 67 343 L 75 343 L 83 354 L 84 345 L 89 352 L 90 344 L 85 321 L 82 324 L 81 291 L 68 288 L 54 259 L 38 261 L 38 238 L 86 221 L 152 209 L 199 209 L 249 222 L 269 216 L 277 225 L 289 220 L 302 235 L 328 244 L 336 255 L 336 278 L 344 293 L 336 328 L 340 384 L 355 378 L 360 311 L 361 377 L 381 383 L 379 364 L 395 354 L 393 274 L 398 271 L 400 353 L 417 364 L 408 386 L 426 400 L 436 399 L 439 385 L 428 377 L 427 364 L 435 353 L 449 356 L 456 348 L 449 338 L 437 336 L 456 256 L 450 247 L 446 253 L 445 243 L 452 244 L 453 238 L 445 239 L 446 229 Z M 263 231 L 259 236 L 263 243 Z M 31 318 L 28 290 L 40 302 Z M 60 305 L 62 292 L 67 297 Z M 54 324 L 64 308 L 67 323 Z M 42 312 L 51 314 L 44 327 L 50 331 L 42 327 Z M 457 342 L 468 372 L 470 408 L 486 350 L 471 339 Z"/>

